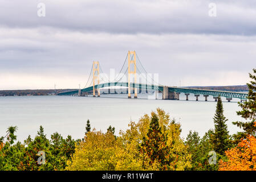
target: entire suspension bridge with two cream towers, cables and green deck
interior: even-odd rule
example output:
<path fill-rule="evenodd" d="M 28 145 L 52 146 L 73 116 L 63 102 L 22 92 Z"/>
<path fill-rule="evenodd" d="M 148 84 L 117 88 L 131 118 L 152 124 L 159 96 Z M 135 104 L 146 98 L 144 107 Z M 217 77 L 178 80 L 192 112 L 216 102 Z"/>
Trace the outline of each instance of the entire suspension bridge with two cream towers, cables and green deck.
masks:
<path fill-rule="evenodd" d="M 127 63 L 128 67 L 126 68 L 125 65 L 127 65 Z M 141 70 L 143 70 L 143 72 L 141 72 Z M 138 78 L 144 80 L 145 83 L 143 83 L 143 81 L 137 82 Z M 88 85 L 90 81 L 91 84 Z M 205 97 L 205 101 L 208 101 L 209 96 L 213 96 L 215 101 L 217 101 L 218 96 L 221 96 L 226 97 L 228 102 L 230 102 L 232 98 L 239 98 L 241 101 L 244 101 L 248 96 L 247 93 L 242 92 L 192 89 L 161 85 L 148 74 L 135 51 L 128 51 L 119 74 L 112 81 L 109 80 L 107 76 L 105 76 L 102 68 L 100 67 L 99 61 L 94 61 L 92 64 L 90 76 L 88 77 L 87 83 L 83 89 L 79 88 L 68 92 L 58 93 L 57 95 L 88 96 L 89 93 L 92 93 L 93 97 L 96 97 L 96 95 L 97 97 L 100 97 L 100 89 L 110 87 L 127 88 L 128 90 L 125 89 L 125 92 L 127 93 L 128 91 L 128 98 L 132 98 L 131 93 L 134 94 L 134 98 L 137 98 L 137 89 L 139 89 L 139 93 L 141 90 L 153 90 L 156 94 L 156 99 L 157 93 L 161 92 L 163 100 L 180 100 L 181 93 L 185 94 L 186 100 L 189 100 L 190 94 L 192 94 L 192 96 L 194 95 L 194 97 L 196 97 L 196 101 L 198 101 L 198 97 L 200 95 Z M 124 93 L 124 91 L 122 93 Z"/>

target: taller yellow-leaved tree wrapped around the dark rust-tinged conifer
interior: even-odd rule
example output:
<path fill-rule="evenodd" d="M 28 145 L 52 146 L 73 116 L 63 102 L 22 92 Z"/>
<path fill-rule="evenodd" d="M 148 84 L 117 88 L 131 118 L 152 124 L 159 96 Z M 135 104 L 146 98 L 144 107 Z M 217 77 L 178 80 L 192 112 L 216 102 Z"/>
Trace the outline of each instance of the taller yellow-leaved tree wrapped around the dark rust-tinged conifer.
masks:
<path fill-rule="evenodd" d="M 181 125 L 174 120 L 171 121 L 169 114 L 165 113 L 165 111 L 160 108 L 157 108 L 156 112 L 152 112 L 151 117 L 145 114 L 139 119 L 138 123 L 131 122 L 129 124 L 130 128 L 125 133 L 122 133 L 122 135 L 125 136 L 127 142 L 129 140 L 140 142 L 143 141 L 143 138 L 148 139 L 147 134 L 153 115 L 156 115 L 158 118 L 161 133 L 166 135 L 166 147 L 169 148 L 168 158 L 172 159 L 172 162 L 169 164 L 169 170 L 184 170 L 190 168 L 191 154 L 188 153 L 187 147 L 180 137 Z M 156 161 L 152 163 L 151 160 L 147 158 L 147 155 L 142 153 L 140 155 L 143 155 L 143 160 L 147 161 L 147 165 L 144 166 L 145 170 L 161 169 L 160 163 Z"/>

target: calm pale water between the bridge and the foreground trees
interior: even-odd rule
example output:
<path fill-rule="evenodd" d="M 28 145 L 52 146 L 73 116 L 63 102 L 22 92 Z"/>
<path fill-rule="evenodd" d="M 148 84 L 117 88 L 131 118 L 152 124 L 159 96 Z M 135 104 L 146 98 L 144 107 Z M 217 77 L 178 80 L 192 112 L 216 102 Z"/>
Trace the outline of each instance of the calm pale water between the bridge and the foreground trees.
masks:
<path fill-rule="evenodd" d="M 115 97 L 115 98 L 113 98 Z M 213 115 L 216 103 L 212 97 L 205 102 L 193 101 L 195 97 L 190 94 L 191 101 L 185 101 L 181 95 L 180 101 L 175 100 L 148 100 L 146 94 L 139 94 L 139 99 L 128 99 L 126 94 L 101 95 L 93 97 L 68 97 L 68 96 L 21 96 L 0 97 L 0 136 L 5 135 L 7 127 L 18 126 L 18 140 L 23 141 L 31 135 L 34 137 L 39 126 L 50 138 L 50 134 L 58 131 L 63 137 L 71 135 L 72 138 L 84 136 L 87 119 L 91 127 L 96 130 L 106 131 L 109 125 L 119 130 L 128 128 L 128 123 L 138 121 L 145 113 L 151 113 L 157 107 L 168 111 L 171 118 L 176 118 L 181 123 L 182 137 L 186 137 L 189 130 L 196 130 L 200 136 L 214 128 Z M 161 95 L 159 95 L 161 98 Z M 231 122 L 241 119 L 235 111 L 239 110 L 238 104 L 226 102 L 224 114 L 229 121 L 227 126 L 230 134 L 238 131 Z"/>

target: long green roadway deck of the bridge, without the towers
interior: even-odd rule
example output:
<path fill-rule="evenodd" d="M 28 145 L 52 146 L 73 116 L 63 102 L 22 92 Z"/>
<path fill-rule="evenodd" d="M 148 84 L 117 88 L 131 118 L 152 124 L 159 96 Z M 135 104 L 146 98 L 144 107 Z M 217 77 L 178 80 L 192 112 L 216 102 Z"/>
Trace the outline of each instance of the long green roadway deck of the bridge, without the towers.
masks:
<path fill-rule="evenodd" d="M 105 88 L 109 86 L 124 86 L 128 87 L 128 82 L 108 82 L 103 84 L 95 85 L 95 89 Z M 220 91 L 220 90 L 206 90 L 206 89 L 192 89 L 192 88 L 180 88 L 175 86 L 163 86 L 163 85 L 147 85 L 147 84 L 137 84 L 131 83 L 131 88 L 138 89 L 148 89 L 148 90 L 158 90 L 162 92 L 162 99 L 167 100 L 179 100 L 179 94 L 185 93 L 186 100 L 188 100 L 189 94 L 194 94 L 198 100 L 198 96 L 200 94 L 204 95 L 205 101 L 207 101 L 208 96 L 213 96 L 217 101 L 217 97 L 220 95 L 222 97 L 226 97 L 227 101 L 230 102 L 232 98 L 240 98 L 242 100 L 246 100 L 248 94 L 242 92 L 228 92 L 228 91 Z M 68 96 L 68 95 L 79 95 L 83 93 L 87 93 L 93 90 L 93 86 L 84 89 L 72 90 L 68 92 L 58 93 L 58 96 Z"/>

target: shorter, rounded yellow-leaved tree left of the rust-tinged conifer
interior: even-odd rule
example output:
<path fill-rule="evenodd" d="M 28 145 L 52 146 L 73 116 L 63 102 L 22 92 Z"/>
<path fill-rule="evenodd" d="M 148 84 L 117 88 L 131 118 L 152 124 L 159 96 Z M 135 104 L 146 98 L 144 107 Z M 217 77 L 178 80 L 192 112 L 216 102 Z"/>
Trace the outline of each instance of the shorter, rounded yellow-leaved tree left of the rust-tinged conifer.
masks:
<path fill-rule="evenodd" d="M 136 158 L 132 141 L 129 145 L 112 132 L 90 131 L 84 141 L 76 145 L 75 153 L 67 162 L 67 170 L 139 170 L 142 162 Z"/>

